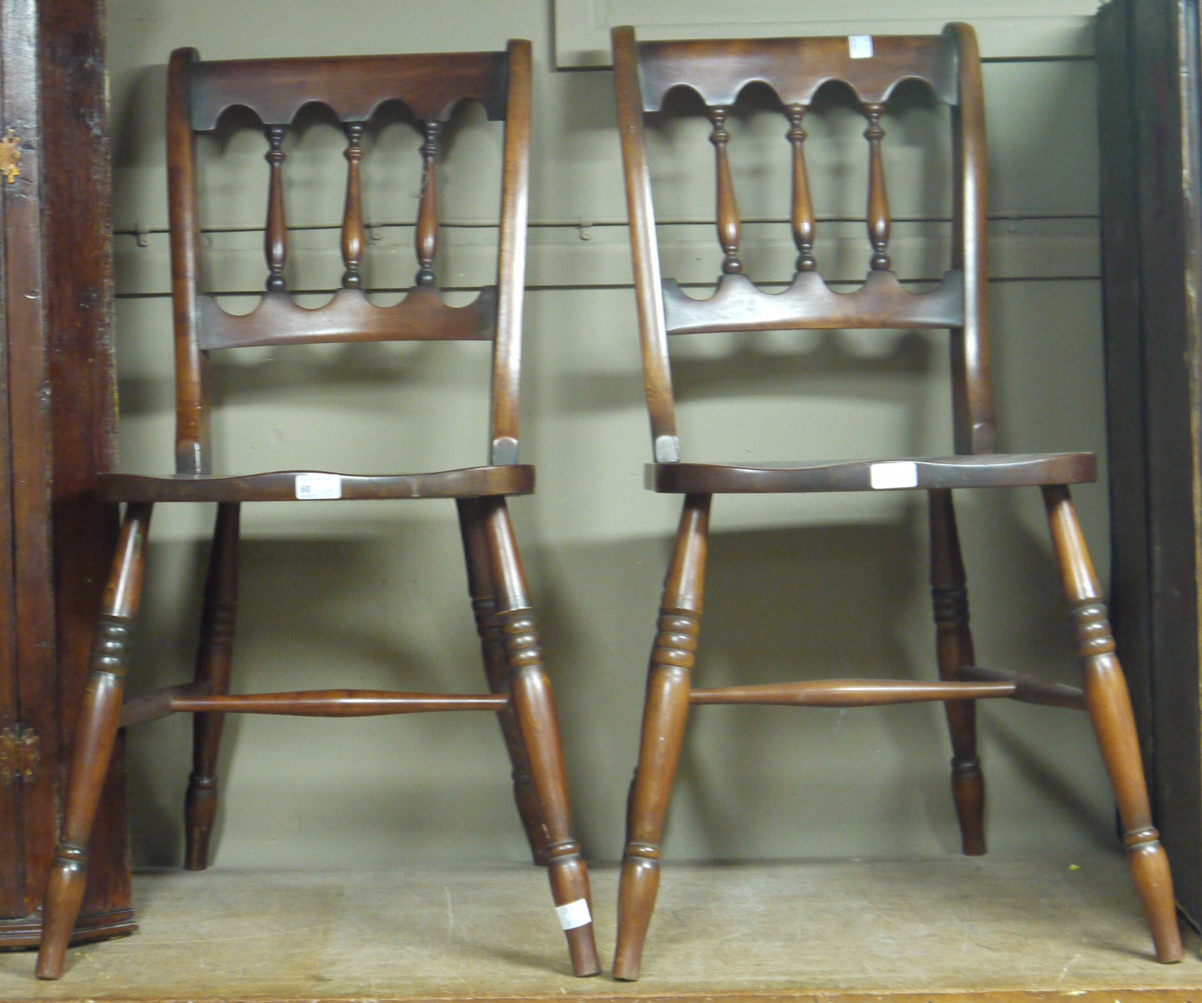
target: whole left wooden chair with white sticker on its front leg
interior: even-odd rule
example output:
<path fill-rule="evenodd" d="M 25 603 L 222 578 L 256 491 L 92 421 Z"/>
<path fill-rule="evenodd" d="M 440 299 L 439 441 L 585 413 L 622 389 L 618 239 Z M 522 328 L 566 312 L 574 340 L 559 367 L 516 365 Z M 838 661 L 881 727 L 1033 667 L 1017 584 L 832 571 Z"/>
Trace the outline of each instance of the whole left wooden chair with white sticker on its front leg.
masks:
<path fill-rule="evenodd" d="M 63 972 L 67 938 L 84 890 L 88 835 L 118 728 L 175 712 L 195 717 L 195 758 L 186 800 L 186 866 L 208 862 L 216 808 L 215 765 L 226 713 L 362 717 L 426 711 L 493 711 L 513 762 L 514 794 L 536 861 L 548 866 L 560 924 L 577 975 L 600 971 L 593 938 L 589 882 L 572 837 L 567 783 L 551 687 L 505 499 L 534 491 L 534 468 L 518 457 L 518 375 L 530 174 L 530 43 L 506 52 L 380 55 L 201 63 L 194 49 L 172 53 L 167 146 L 174 297 L 177 435 L 175 475 L 109 474 L 100 491 L 127 504 L 91 657 L 87 695 L 76 729 L 66 817 L 46 898 L 37 974 Z M 367 120 L 383 101 L 401 100 L 418 120 L 424 143 L 415 286 L 392 307 L 363 292 L 364 224 L 359 164 Z M 463 100 L 483 103 L 505 121 L 498 284 L 475 302 L 452 308 L 434 286 L 438 247 L 435 168 L 439 137 Z M 287 230 L 281 140 L 303 105 L 328 106 L 345 124 L 346 210 L 343 289 L 320 309 L 298 307 L 285 290 Z M 245 316 L 225 313 L 197 289 L 194 136 L 213 130 L 231 106 L 263 123 L 270 179 L 267 209 L 267 293 Z M 319 342 L 490 340 L 493 397 L 490 455 L 483 467 L 440 473 L 350 476 L 298 471 L 214 476 L 209 447 L 208 355 L 248 345 Z M 468 584 L 483 648 L 487 694 L 415 694 L 319 690 L 230 695 L 231 643 L 237 601 L 238 516 L 243 502 L 302 498 L 453 498 L 458 505 Z M 216 502 L 196 681 L 121 706 L 130 640 L 138 613 L 143 551 L 156 502 Z"/>

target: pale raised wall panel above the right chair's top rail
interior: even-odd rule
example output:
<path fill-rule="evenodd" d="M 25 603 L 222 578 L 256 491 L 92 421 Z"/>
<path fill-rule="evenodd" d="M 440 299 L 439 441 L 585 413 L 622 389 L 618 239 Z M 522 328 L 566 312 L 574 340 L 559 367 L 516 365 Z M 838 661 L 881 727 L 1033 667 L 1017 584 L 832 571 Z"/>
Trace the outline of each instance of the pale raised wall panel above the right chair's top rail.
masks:
<path fill-rule="evenodd" d="M 1082 55 L 1094 51 L 1096 2 L 1061 0 L 554 0 L 555 65 L 611 66 L 609 29 L 642 40 L 778 38 L 790 35 L 932 35 L 971 22 L 989 57 Z"/>

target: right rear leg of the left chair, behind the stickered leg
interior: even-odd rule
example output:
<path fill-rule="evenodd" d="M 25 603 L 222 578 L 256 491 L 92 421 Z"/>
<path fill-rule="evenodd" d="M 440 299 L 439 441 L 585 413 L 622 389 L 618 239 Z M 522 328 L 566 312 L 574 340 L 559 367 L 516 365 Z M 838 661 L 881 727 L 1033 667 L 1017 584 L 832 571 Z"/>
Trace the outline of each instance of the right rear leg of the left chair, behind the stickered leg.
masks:
<path fill-rule="evenodd" d="M 484 533 L 483 508 L 478 498 L 460 498 L 459 529 L 463 534 L 463 552 L 468 563 L 468 590 L 471 609 L 476 615 L 476 630 L 484 657 L 484 676 L 493 693 L 506 693 L 510 686 L 510 666 L 505 657 L 501 622 L 496 616 L 496 595 L 493 574 L 488 563 L 488 540 Z M 525 829 L 530 854 L 540 867 L 547 866 L 547 829 L 538 809 L 538 795 L 530 778 L 530 758 L 522 740 L 513 707 L 496 712 L 505 737 L 505 748 L 513 765 L 513 800 L 518 806 L 522 826 Z"/>

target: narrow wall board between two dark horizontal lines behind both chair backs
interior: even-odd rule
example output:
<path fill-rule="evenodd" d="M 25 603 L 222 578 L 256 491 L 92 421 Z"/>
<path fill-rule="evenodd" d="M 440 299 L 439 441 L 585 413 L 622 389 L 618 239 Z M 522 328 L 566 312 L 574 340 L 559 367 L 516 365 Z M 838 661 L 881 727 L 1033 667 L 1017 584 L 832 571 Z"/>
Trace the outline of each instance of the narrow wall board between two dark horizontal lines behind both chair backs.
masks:
<path fill-rule="evenodd" d="M 947 222 L 897 222 L 889 254 L 902 279 L 938 279 L 951 261 Z M 828 281 L 858 283 L 871 248 L 859 222 L 820 222 L 815 255 Z M 664 274 L 686 285 L 708 285 L 720 274 L 713 225 L 659 229 Z M 530 286 L 630 285 L 630 236 L 625 226 L 543 226 L 529 235 Z M 216 292 L 260 292 L 267 277 L 258 232 L 208 233 L 202 251 L 203 286 Z M 144 247 L 143 247 L 144 244 Z M 118 235 L 119 295 L 171 293 L 166 233 Z M 743 262 L 757 283 L 789 283 L 797 249 L 789 225 L 746 224 Z M 990 224 L 990 273 L 995 279 L 1093 278 L 1099 273 L 1097 224 L 1093 219 L 998 220 Z M 337 230 L 302 230 L 288 242 L 285 277 L 296 290 L 333 290 L 344 271 Z M 417 271 L 413 229 L 376 227 L 364 255 L 369 289 L 409 289 Z M 442 286 L 478 289 L 496 281 L 496 231 L 444 227 L 435 275 Z M 703 293 L 695 293 L 703 295 Z"/>

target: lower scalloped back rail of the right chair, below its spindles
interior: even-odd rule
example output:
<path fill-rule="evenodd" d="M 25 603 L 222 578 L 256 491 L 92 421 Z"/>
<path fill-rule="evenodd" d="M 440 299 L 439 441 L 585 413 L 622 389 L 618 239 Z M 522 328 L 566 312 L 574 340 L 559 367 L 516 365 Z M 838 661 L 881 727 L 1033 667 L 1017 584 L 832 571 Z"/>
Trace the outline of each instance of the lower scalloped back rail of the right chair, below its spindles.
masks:
<path fill-rule="evenodd" d="M 668 334 L 797 328 L 964 326 L 964 273 L 951 269 L 927 292 L 910 292 L 893 272 L 869 272 L 855 292 L 834 292 L 817 272 L 798 272 L 784 292 L 763 292 L 746 275 L 722 275 L 708 299 L 664 280 Z"/>

